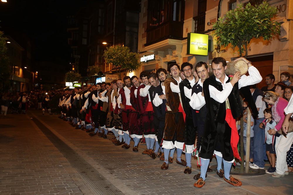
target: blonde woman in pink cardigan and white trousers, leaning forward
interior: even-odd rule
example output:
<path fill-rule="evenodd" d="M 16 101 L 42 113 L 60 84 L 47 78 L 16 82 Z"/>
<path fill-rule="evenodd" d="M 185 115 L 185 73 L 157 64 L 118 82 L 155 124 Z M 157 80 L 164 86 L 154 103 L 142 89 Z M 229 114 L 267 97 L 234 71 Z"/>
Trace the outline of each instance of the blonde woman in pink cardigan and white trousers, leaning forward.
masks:
<path fill-rule="evenodd" d="M 271 91 L 264 93 L 263 101 L 269 105 L 272 105 L 272 117 L 277 125 L 274 129 L 271 129 L 269 133 L 271 135 L 275 135 L 277 132 L 279 132 L 279 130 L 282 130 L 282 123 L 285 119 L 284 109 L 288 105 L 288 101 L 280 97 L 279 94 Z M 284 135 L 280 135 L 276 138 L 275 149 L 277 155 L 277 166 L 276 172 L 272 174 L 272 177 L 284 177 L 285 171 L 288 171 L 288 167 L 286 165 L 286 155 L 287 151 L 290 149 L 291 144 L 288 148 L 288 143 L 286 142 L 286 137 Z"/>

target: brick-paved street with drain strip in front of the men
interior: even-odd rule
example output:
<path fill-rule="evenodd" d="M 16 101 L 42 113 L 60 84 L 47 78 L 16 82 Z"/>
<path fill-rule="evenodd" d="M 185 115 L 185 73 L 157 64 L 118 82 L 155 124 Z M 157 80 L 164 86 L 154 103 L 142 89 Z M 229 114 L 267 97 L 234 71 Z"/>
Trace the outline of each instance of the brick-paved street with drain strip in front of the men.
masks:
<path fill-rule="evenodd" d="M 0 117 L 1 195 L 293 194 L 293 173 L 273 178 L 263 170 L 238 174 L 232 168 L 231 175 L 242 182 L 234 187 L 216 174 L 215 159 L 204 187 L 195 188 L 197 160 L 192 159 L 192 173 L 184 174 L 175 152 L 174 163 L 161 170 L 163 161 L 142 154 L 144 143 L 138 152 L 132 151 L 133 141 L 130 149 L 124 149 L 109 140 L 113 134 L 107 139 L 90 137 L 58 116 L 29 110 Z"/>

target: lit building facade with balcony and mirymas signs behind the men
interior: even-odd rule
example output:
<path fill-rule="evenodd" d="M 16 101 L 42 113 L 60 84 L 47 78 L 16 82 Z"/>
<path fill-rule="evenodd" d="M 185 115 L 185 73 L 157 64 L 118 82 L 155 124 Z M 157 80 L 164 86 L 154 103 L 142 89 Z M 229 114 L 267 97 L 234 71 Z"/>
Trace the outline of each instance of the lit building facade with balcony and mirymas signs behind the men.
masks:
<path fill-rule="evenodd" d="M 199 61 L 211 63 L 214 57 L 223 57 L 227 61 L 234 60 L 239 56 L 237 50 L 231 49 L 229 45 L 217 49 L 212 23 L 216 22 L 218 17 L 223 17 L 227 11 L 236 8 L 237 4 L 248 2 L 255 4 L 255 1 L 248 0 L 142 0 L 138 41 L 142 67 L 137 73 L 142 70 L 167 68 L 169 63 L 179 65 L 183 62 L 190 62 L 193 65 Z M 280 80 L 281 72 L 288 71 L 293 74 L 293 10 L 289 9 L 293 1 L 270 0 L 268 3 L 278 9 L 275 20 L 282 25 L 280 35 L 274 36 L 269 41 L 252 39 L 248 45 L 248 60 L 253 62 L 263 78 L 273 73 L 277 82 Z M 157 26 L 151 26 L 153 17 L 157 17 L 160 22 L 163 17 L 164 21 Z M 187 54 L 187 36 L 190 32 L 209 35 L 211 49 L 207 56 Z M 151 55 L 154 55 L 154 60 L 144 61 L 145 56 Z M 265 85 L 264 80 L 258 84 L 259 87 L 263 85 Z"/>

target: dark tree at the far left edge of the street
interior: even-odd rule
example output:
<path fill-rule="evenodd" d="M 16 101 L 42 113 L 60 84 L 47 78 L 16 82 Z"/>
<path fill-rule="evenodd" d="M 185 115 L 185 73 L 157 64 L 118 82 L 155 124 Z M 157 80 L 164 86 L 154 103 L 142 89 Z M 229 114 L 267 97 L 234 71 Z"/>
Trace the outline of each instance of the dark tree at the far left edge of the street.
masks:
<path fill-rule="evenodd" d="M 8 79 L 11 75 L 11 69 L 9 67 L 9 58 L 7 56 L 7 39 L 3 35 L 4 33 L 0 31 L 0 90 L 7 90 L 10 88 L 10 82 Z"/>

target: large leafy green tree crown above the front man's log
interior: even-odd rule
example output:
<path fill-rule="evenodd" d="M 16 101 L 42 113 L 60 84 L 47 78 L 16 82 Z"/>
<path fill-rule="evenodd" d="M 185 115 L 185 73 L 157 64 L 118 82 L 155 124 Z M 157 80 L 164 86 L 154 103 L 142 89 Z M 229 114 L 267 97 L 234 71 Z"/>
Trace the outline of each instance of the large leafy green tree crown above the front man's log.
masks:
<path fill-rule="evenodd" d="M 280 33 L 281 25 L 272 20 L 277 8 L 271 7 L 266 1 L 255 6 L 248 3 L 244 8 L 242 4 L 237 6 L 235 10 L 228 11 L 224 18 L 219 18 L 213 28 L 219 38 L 217 44 L 227 46 L 231 43 L 232 49 L 237 46 L 239 56 L 245 49 L 247 57 L 247 45 L 251 39 L 263 37 L 269 40 L 274 34 Z"/>

